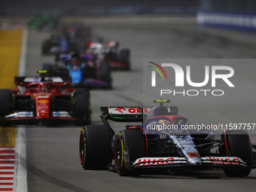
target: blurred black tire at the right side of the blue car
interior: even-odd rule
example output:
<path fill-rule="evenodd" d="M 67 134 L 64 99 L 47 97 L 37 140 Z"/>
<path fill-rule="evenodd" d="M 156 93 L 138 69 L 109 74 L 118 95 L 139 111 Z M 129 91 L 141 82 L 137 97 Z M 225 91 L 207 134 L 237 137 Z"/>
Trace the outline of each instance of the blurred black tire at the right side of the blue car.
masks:
<path fill-rule="evenodd" d="M 112 89 L 111 66 L 109 62 L 103 62 L 99 66 L 99 79 L 107 82 L 106 89 Z"/>

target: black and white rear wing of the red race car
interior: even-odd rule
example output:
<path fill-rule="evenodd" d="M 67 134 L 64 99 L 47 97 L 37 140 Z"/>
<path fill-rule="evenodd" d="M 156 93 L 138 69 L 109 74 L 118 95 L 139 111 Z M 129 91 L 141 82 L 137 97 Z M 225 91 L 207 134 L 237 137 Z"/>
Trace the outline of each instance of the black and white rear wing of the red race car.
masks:
<path fill-rule="evenodd" d="M 64 85 L 71 84 L 72 79 L 69 78 L 60 78 L 60 77 L 15 77 L 14 82 L 16 85 L 26 86 L 31 83 L 38 82 L 52 82 L 54 84 Z"/>

